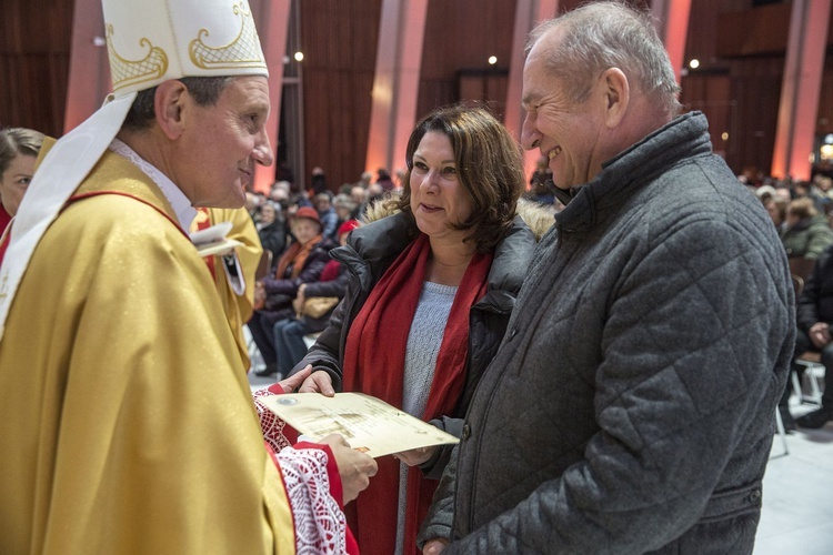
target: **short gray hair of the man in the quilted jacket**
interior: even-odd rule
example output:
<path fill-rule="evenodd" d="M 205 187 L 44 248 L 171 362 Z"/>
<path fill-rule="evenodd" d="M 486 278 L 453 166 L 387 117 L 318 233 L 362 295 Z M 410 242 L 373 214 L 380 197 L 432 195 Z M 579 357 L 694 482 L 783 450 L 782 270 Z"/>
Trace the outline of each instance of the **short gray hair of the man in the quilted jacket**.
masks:
<path fill-rule="evenodd" d="M 585 4 L 533 29 L 526 53 L 553 28 L 561 31 L 561 40 L 545 53 L 546 64 L 573 101 L 586 100 L 595 79 L 619 68 L 632 85 L 655 97 L 672 117 L 680 113 L 680 87 L 648 12 L 616 0 Z"/>

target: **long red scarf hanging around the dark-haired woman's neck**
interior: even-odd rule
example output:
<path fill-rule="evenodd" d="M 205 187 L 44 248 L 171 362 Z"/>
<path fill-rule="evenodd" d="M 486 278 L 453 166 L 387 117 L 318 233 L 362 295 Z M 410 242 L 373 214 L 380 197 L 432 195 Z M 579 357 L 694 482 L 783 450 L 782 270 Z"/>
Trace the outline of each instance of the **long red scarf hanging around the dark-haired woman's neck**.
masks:
<path fill-rule="evenodd" d="M 344 391 L 360 391 L 402 406 L 405 345 L 431 252 L 428 235 L 420 235 L 397 258 L 371 291 L 353 321 L 344 350 Z M 451 414 L 465 383 L 469 353 L 469 313 L 486 293 L 492 254 L 475 254 L 463 274 L 436 357 L 424 421 Z M 379 473 L 359 498 L 347 506 L 348 523 L 362 553 L 389 555 L 397 543 L 399 461 L 377 461 Z M 436 481 L 408 473 L 404 553 L 416 553 L 416 532 L 428 514 Z"/>

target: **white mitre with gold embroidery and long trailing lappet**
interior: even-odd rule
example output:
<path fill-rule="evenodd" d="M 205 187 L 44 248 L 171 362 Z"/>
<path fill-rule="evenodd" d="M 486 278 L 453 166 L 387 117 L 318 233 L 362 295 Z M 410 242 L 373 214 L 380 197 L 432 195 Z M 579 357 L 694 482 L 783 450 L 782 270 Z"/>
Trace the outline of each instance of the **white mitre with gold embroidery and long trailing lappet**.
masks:
<path fill-rule="evenodd" d="M 23 195 L 0 268 L 0 341 L 32 252 L 139 91 L 183 77 L 269 77 L 247 0 L 102 0 L 102 7 L 113 92 L 52 147 Z"/>

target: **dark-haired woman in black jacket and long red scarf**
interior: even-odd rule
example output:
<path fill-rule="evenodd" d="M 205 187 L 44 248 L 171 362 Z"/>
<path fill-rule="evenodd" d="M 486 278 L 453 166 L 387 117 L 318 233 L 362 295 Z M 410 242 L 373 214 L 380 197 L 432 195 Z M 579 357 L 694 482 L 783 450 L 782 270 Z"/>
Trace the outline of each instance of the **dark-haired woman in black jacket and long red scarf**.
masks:
<path fill-rule="evenodd" d="M 313 370 L 302 392 L 368 393 L 460 435 L 535 246 L 515 215 L 522 158 L 488 111 L 454 107 L 416 125 L 407 164 L 401 198 L 382 203 L 397 213 L 331 253 L 351 274 L 347 294 L 293 372 Z M 363 554 L 416 553 L 450 452 L 378 461 L 370 487 L 345 509 Z"/>

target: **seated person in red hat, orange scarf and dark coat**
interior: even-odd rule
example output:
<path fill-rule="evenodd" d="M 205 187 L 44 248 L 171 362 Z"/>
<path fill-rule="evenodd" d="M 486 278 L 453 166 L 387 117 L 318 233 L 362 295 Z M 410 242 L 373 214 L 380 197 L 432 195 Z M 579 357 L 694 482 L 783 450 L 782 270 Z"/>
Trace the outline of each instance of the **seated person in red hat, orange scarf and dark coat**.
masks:
<path fill-rule="evenodd" d="M 330 261 L 333 242 L 322 234 L 321 219 L 312 206 L 301 206 L 289 223 L 292 243 L 287 248 L 272 275 L 255 284 L 255 311 L 249 321 L 249 331 L 267 366 L 257 371 L 261 377 L 278 374 L 278 352 L 274 344 L 274 324 L 294 314 L 292 301 L 299 287 L 319 281 Z"/>

